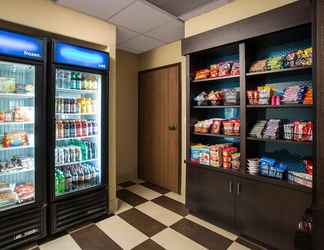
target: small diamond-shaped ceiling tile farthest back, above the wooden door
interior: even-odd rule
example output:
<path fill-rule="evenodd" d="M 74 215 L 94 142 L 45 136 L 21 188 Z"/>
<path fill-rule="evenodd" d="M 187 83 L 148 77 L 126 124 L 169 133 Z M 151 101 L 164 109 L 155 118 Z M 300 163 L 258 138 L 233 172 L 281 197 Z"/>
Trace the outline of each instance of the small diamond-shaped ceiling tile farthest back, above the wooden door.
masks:
<path fill-rule="evenodd" d="M 130 48 L 140 53 L 161 47 L 162 45 L 163 43 L 161 41 L 143 35 L 120 44 L 121 47 Z"/>

